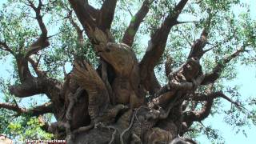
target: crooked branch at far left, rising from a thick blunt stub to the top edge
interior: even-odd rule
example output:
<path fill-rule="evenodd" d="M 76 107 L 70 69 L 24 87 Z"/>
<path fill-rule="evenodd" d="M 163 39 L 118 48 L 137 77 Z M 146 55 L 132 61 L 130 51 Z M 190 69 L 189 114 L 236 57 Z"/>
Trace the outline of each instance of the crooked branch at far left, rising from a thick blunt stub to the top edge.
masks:
<path fill-rule="evenodd" d="M 31 9 L 35 12 L 35 19 L 38 22 L 38 26 L 41 30 L 40 37 L 37 41 L 33 42 L 29 49 L 26 50 L 26 54 L 22 54 L 20 51 L 15 55 L 15 59 L 18 67 L 18 76 L 20 78 L 21 84 L 10 86 L 10 93 L 14 94 L 17 97 L 24 98 L 29 97 L 34 94 L 46 94 L 50 96 L 49 90 L 53 90 L 59 84 L 56 80 L 51 78 L 46 78 L 45 72 L 38 69 L 38 62 L 35 62 L 30 55 L 36 54 L 39 50 L 46 48 L 50 45 L 47 37 L 46 25 L 42 21 L 42 0 L 38 0 L 38 6 L 34 6 L 34 3 L 30 0 L 24 2 L 26 6 L 30 6 Z M 34 78 L 34 76 L 30 72 L 30 68 L 28 66 L 28 62 L 31 63 L 31 66 L 34 68 L 36 74 L 38 74 L 38 78 Z"/>

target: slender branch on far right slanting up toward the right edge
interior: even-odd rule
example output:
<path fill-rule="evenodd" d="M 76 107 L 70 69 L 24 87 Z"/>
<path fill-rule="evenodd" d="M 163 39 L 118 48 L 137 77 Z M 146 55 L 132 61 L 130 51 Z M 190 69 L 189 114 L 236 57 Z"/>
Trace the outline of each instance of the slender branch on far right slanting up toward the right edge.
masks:
<path fill-rule="evenodd" d="M 215 82 L 222 74 L 222 70 L 224 70 L 226 64 L 244 51 L 245 50 L 243 48 L 239 48 L 233 54 L 230 54 L 229 56 L 226 56 L 222 60 L 218 61 L 217 66 L 214 67 L 214 70 L 209 74 L 205 74 L 205 78 L 202 80 L 202 85 Z"/>

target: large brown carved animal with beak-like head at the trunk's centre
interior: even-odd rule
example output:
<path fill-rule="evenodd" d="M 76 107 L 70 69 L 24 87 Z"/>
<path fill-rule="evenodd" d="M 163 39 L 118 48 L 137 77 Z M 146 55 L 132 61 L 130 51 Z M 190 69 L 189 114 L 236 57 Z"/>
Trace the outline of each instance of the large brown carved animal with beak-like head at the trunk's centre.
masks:
<path fill-rule="evenodd" d="M 105 50 L 98 54 L 114 67 L 116 78 L 114 78 L 112 87 L 115 102 L 130 103 L 131 107 L 142 106 L 144 98 L 138 92 L 138 62 L 130 46 L 109 42 Z"/>

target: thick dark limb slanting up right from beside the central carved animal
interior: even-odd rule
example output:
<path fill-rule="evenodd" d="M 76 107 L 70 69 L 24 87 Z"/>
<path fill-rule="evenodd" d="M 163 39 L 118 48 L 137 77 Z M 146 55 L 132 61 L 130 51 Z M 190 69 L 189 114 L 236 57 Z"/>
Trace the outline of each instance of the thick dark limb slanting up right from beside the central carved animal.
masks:
<path fill-rule="evenodd" d="M 149 82 L 151 74 L 154 71 L 154 66 L 157 65 L 159 59 L 162 57 L 170 29 L 178 24 L 178 15 L 182 12 L 184 6 L 186 6 L 186 2 L 188 2 L 188 0 L 181 0 L 178 5 L 174 7 L 172 13 L 166 17 L 162 26 L 151 36 L 146 54 L 140 62 L 140 75 L 142 83 L 145 86 L 147 85 L 146 82 Z"/>

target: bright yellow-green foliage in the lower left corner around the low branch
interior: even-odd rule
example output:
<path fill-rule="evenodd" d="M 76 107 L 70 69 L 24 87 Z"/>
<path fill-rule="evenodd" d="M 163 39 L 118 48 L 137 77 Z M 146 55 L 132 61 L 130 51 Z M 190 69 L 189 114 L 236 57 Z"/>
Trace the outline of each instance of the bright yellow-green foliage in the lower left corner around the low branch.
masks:
<path fill-rule="evenodd" d="M 0 79 L 0 96 L 3 102 L 18 103 L 22 106 L 21 98 L 14 98 L 13 95 L 9 93 L 8 86 L 10 86 L 10 82 L 6 82 L 5 79 Z M 4 94 L 4 95 L 2 95 Z M 30 99 L 27 102 L 27 107 L 37 106 L 38 104 L 34 101 L 38 101 L 38 99 Z M 52 134 L 46 133 L 40 127 L 42 123 L 38 121 L 38 118 L 30 117 L 30 115 L 22 115 L 17 117 L 16 112 L 11 110 L 0 109 L 0 133 L 7 134 L 7 136 L 11 139 L 14 139 L 16 142 L 24 142 L 25 139 L 50 139 L 53 138 Z M 44 115 L 44 119 L 46 122 L 50 122 L 52 114 Z"/>

